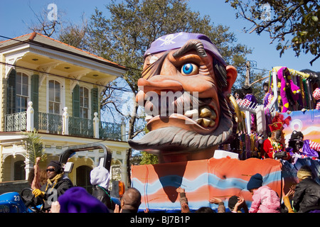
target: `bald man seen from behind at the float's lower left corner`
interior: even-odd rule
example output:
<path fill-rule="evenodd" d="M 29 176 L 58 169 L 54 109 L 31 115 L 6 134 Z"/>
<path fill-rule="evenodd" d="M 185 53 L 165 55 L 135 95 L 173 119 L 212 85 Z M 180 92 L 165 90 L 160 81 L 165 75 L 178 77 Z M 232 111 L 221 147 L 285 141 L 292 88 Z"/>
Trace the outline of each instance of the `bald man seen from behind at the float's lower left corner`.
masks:
<path fill-rule="evenodd" d="M 119 205 L 116 204 L 114 213 L 137 213 L 141 204 L 140 192 L 134 187 L 129 187 L 129 189 L 124 192 L 120 204 L 121 209 Z"/>

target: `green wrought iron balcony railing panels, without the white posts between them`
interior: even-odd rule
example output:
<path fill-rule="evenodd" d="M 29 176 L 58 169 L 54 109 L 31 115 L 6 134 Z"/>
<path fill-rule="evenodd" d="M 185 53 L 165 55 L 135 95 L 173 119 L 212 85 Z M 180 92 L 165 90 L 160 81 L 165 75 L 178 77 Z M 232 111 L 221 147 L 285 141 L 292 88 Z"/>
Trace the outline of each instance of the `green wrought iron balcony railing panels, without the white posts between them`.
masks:
<path fill-rule="evenodd" d="M 26 131 L 26 112 L 6 114 L 6 131 Z M 93 120 L 69 116 L 68 135 L 94 137 Z M 38 112 L 34 114 L 34 128 L 51 134 L 62 134 L 63 116 Z M 121 140 L 121 124 L 100 121 L 99 138 L 107 140 Z"/>

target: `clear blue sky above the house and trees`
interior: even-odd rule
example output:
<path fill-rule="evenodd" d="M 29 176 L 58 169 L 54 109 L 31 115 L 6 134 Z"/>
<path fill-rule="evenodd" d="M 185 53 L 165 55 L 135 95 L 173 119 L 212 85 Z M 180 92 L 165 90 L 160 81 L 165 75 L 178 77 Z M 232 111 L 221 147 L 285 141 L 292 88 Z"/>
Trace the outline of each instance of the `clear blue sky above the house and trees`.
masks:
<path fill-rule="evenodd" d="M 81 15 L 85 13 L 87 19 L 94 12 L 95 7 L 107 13 L 105 4 L 108 0 L 14 0 L 1 2 L 0 8 L 0 35 L 14 38 L 19 35 L 30 33 L 28 25 L 36 23 L 33 11 L 36 13 L 47 10 L 48 4 L 54 3 L 58 6 L 58 12 L 62 13 L 63 21 L 81 23 Z M 29 5 L 33 9 L 29 8 Z M 313 66 L 309 64 L 311 55 L 294 56 L 292 50 L 284 52 L 279 57 L 279 51 L 275 50 L 275 44 L 270 45 L 269 34 L 257 35 L 256 33 L 244 33 L 243 27 L 249 27 L 250 23 L 242 18 L 235 18 L 236 11 L 226 4 L 224 0 L 190 0 L 191 10 L 199 11 L 201 15 L 209 15 L 215 25 L 222 24 L 229 26 L 230 31 L 235 33 L 238 42 L 252 48 L 251 55 L 247 55 L 247 60 L 257 62 L 259 69 L 271 70 L 275 66 L 286 66 L 294 70 L 310 69 L 320 71 L 320 60 L 314 62 Z M 47 10 L 50 11 L 50 10 Z M 106 15 L 106 14 L 105 14 Z M 161 19 L 161 18 L 159 18 Z"/>

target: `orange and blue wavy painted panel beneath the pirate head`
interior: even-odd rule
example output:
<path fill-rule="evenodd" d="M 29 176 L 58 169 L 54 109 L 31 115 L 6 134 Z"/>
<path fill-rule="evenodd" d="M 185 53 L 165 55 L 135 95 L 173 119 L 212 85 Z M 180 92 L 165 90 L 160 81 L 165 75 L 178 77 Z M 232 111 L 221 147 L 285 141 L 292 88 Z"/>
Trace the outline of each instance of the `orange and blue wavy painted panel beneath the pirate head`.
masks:
<path fill-rule="evenodd" d="M 262 175 L 264 184 L 278 194 L 282 193 L 282 163 L 256 158 L 244 161 L 211 158 L 133 166 L 132 187 L 142 194 L 141 210 L 181 211 L 176 192 L 178 187 L 185 189 L 191 211 L 201 206 L 216 209 L 218 205 L 209 203 L 211 197 L 223 199 L 228 207 L 228 198 L 233 195 L 244 196 L 250 206 L 251 194 L 247 191 L 247 182 L 257 172 Z"/>

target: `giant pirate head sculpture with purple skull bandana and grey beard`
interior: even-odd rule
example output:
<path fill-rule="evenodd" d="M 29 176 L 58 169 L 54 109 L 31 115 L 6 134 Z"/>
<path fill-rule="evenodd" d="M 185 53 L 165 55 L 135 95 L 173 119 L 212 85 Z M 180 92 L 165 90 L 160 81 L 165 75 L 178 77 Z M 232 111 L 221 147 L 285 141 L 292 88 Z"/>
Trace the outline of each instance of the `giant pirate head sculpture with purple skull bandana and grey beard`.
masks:
<path fill-rule="evenodd" d="M 206 35 L 158 38 L 144 54 L 136 96 L 149 133 L 129 145 L 159 155 L 161 162 L 213 157 L 235 128 L 229 98 L 236 77 Z"/>

